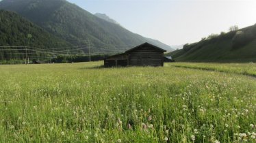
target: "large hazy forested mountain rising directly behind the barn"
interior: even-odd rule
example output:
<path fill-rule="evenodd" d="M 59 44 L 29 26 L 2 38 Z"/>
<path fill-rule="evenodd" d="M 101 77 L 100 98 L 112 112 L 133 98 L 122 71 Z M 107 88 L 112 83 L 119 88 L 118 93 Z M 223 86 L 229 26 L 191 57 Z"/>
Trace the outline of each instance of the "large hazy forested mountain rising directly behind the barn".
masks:
<path fill-rule="evenodd" d="M 90 45 L 91 52 L 123 52 L 144 42 L 170 50 L 166 44 L 132 33 L 65 0 L 3 0 L 0 9 L 17 12 L 73 45 Z"/>

